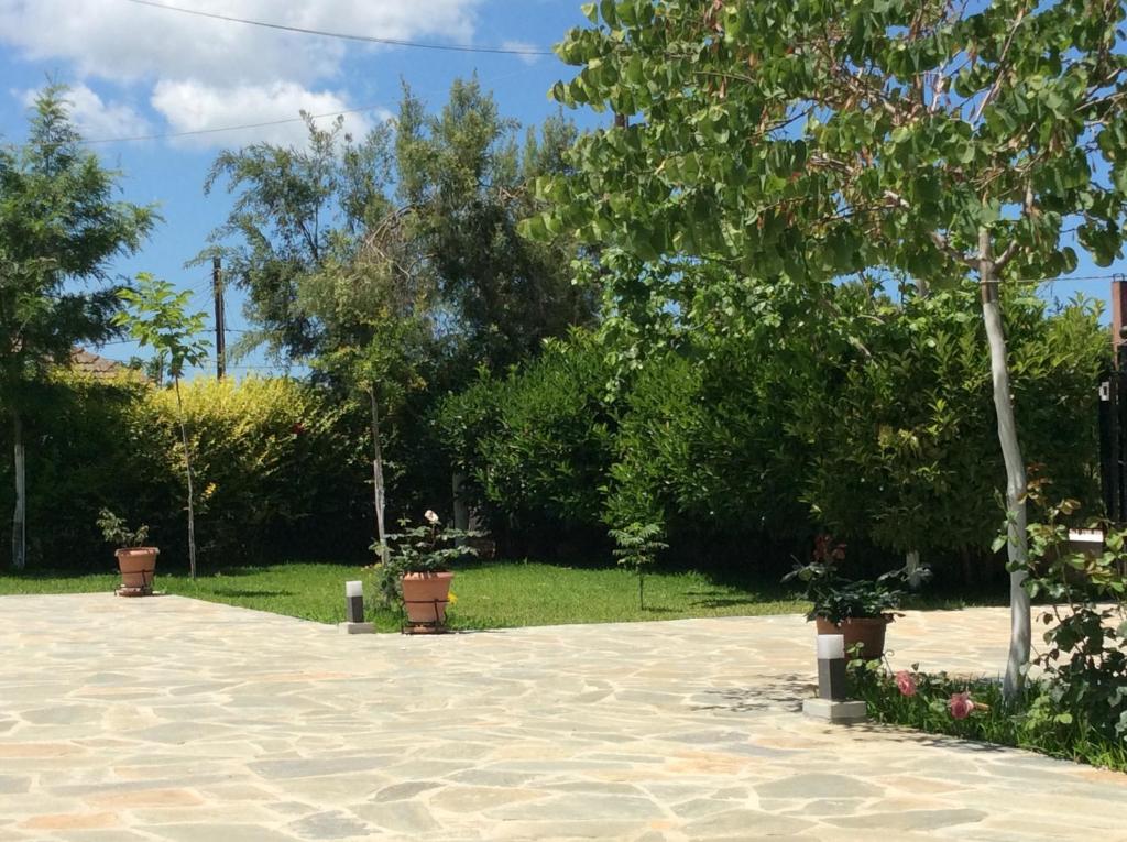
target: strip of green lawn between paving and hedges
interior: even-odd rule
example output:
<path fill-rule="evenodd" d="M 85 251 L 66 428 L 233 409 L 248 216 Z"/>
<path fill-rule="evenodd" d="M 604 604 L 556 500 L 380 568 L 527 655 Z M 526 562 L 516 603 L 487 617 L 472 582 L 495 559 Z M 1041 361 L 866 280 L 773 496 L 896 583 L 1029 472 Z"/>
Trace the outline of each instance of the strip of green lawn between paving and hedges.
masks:
<path fill-rule="evenodd" d="M 701 573 L 646 575 L 646 608 L 638 608 L 638 579 L 616 567 L 575 568 L 536 562 L 477 562 L 456 569 L 450 623 L 456 629 L 497 629 L 588 622 L 676 620 L 799 613 L 809 605 L 789 599 L 778 587 L 721 584 Z M 344 583 L 363 579 L 372 594 L 369 571 L 331 564 L 285 564 L 239 567 L 201 576 L 157 570 L 157 590 L 180 596 L 300 617 L 318 622 L 345 619 Z M 0 574 L 0 595 L 110 592 L 114 575 L 66 576 Z M 392 611 L 370 619 L 381 630 L 399 629 Z"/>

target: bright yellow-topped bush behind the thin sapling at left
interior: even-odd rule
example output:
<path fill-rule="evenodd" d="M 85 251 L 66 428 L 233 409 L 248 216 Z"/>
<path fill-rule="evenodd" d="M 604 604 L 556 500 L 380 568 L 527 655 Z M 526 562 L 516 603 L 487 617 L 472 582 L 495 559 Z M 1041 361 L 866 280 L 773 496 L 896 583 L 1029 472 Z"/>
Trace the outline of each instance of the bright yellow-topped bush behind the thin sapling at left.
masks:
<path fill-rule="evenodd" d="M 198 378 L 181 387 L 188 447 L 197 480 L 205 555 L 261 558 L 287 542 L 323 553 L 367 544 L 363 425 L 328 390 L 284 378 Z M 176 393 L 149 392 L 128 424 L 153 495 L 161 534 L 181 511 L 184 444 Z M 140 505 L 132 504 L 131 508 Z M 365 524 L 365 525 L 362 525 Z M 358 534 L 357 534 L 358 533 Z"/>

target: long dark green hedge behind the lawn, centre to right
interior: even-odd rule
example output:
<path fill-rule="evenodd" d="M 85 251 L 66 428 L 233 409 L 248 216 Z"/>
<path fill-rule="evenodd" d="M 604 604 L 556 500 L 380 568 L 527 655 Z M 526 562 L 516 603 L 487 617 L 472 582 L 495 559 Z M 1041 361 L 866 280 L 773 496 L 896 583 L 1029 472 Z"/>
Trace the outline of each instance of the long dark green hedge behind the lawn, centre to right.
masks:
<path fill-rule="evenodd" d="M 975 294 L 893 301 L 842 285 L 825 318 L 686 331 L 613 400 L 607 349 L 578 333 L 447 400 L 445 440 L 495 528 L 566 540 L 659 522 L 671 556 L 761 571 L 832 530 L 878 566 L 919 549 L 970 570 L 1004 517 Z M 1098 507 L 1099 308 L 1013 293 L 1005 303 L 1027 459 Z"/>

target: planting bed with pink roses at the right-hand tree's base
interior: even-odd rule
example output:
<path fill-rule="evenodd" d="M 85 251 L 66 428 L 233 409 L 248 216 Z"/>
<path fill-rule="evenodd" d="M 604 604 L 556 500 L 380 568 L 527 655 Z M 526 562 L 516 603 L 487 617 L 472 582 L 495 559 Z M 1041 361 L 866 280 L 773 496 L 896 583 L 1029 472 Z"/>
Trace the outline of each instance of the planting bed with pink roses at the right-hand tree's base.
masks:
<path fill-rule="evenodd" d="M 1035 479 L 1028 494 L 1045 517 L 1027 528 L 1026 590 L 1045 604 L 1035 611 L 1042 645 L 1021 690 L 919 664 L 894 673 L 879 661 L 851 664 L 854 690 L 878 721 L 1127 771 L 1127 530 L 1090 523 L 1103 530 L 1103 548 L 1072 548 L 1077 504 L 1046 504 L 1046 485 Z"/>

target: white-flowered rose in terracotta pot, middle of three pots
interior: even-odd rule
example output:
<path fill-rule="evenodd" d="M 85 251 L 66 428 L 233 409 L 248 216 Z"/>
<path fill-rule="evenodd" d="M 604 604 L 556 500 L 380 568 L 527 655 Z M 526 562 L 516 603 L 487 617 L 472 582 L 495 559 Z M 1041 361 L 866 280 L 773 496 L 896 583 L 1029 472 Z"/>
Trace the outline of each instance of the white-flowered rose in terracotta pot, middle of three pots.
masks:
<path fill-rule="evenodd" d="M 477 555 L 464 543 L 464 539 L 476 538 L 476 532 L 443 528 L 438 515 L 429 509 L 423 520 L 416 526 L 400 521 L 400 532 L 388 535 L 387 560 L 375 565 L 376 593 L 385 605 L 402 605 L 407 626 L 416 631 L 445 628 L 454 578 L 450 567 Z M 379 551 L 380 544 L 372 549 Z"/>

